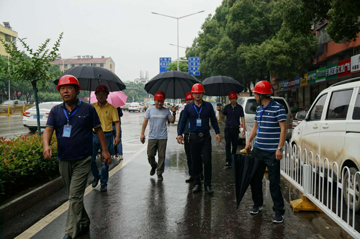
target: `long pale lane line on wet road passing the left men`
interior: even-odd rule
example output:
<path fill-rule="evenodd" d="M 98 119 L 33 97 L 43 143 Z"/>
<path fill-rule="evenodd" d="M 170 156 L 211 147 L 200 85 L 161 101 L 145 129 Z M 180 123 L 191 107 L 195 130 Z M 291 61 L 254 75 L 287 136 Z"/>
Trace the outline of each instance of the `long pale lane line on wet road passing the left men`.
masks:
<path fill-rule="evenodd" d="M 128 160 L 124 159 L 120 164 L 118 164 L 113 170 L 109 172 L 109 177 L 111 177 L 114 173 L 119 171 L 122 167 L 130 163 L 134 158 L 136 158 L 138 155 L 140 155 L 143 151 L 147 149 L 148 144 L 144 145 L 137 153 L 135 153 L 133 156 L 131 156 Z M 99 185 L 100 186 L 100 185 Z M 98 187 L 99 187 L 98 186 Z M 92 185 L 89 185 L 85 189 L 84 197 L 91 191 L 93 191 L 95 188 L 92 187 Z M 34 236 L 39 231 L 41 231 L 44 227 L 46 227 L 48 224 L 50 224 L 52 221 L 54 221 L 58 216 L 60 216 L 62 213 L 66 212 L 66 210 L 69 208 L 69 201 L 66 201 L 63 205 L 58 207 L 57 209 L 50 212 L 50 214 L 46 215 L 44 218 L 42 218 L 39 222 L 32 225 L 29 229 L 21 233 L 19 236 L 15 237 L 15 239 L 23 239 L 23 238 L 30 238 L 31 236 Z"/>

